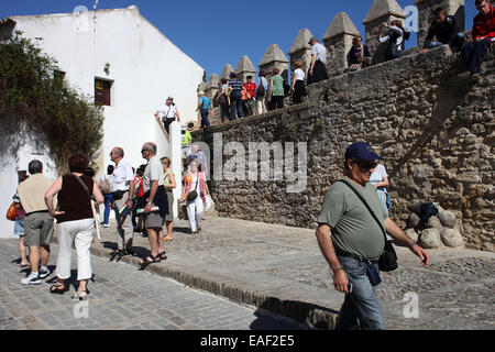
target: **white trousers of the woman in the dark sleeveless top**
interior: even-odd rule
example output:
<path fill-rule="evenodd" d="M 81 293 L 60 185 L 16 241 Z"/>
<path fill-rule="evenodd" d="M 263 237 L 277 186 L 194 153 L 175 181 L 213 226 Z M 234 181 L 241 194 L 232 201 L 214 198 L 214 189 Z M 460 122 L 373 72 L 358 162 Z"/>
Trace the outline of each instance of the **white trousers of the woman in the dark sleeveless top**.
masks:
<path fill-rule="evenodd" d="M 67 279 L 70 277 L 74 242 L 77 255 L 77 279 L 81 280 L 92 277 L 90 249 L 94 230 L 94 219 L 67 221 L 58 224 L 58 278 Z"/>

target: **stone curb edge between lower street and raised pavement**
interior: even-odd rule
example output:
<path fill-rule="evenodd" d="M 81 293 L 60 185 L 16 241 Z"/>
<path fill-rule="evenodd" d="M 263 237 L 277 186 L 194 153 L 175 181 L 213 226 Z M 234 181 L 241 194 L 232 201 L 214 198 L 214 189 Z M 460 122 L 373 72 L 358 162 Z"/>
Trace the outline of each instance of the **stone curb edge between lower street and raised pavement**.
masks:
<path fill-rule="evenodd" d="M 54 242 L 58 243 L 58 238 L 54 235 Z M 100 257 L 111 258 L 111 253 L 95 245 L 91 246 L 91 254 Z M 123 256 L 121 262 L 140 266 L 140 258 L 135 256 Z M 265 295 L 261 292 L 248 287 L 245 283 L 235 283 L 231 278 L 188 271 L 183 267 L 150 265 L 144 271 L 152 274 L 175 279 L 186 286 L 201 289 L 213 295 L 222 296 L 238 304 L 255 306 L 258 309 L 271 314 L 284 316 L 302 323 L 312 329 L 333 330 L 338 314 L 322 310 L 322 307 Z"/>

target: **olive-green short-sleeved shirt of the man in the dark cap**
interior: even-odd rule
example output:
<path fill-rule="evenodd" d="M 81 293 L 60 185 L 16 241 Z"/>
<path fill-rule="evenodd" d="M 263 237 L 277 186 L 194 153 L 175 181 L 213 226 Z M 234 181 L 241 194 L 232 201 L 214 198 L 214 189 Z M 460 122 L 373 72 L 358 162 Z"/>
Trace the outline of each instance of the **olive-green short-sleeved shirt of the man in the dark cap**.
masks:
<path fill-rule="evenodd" d="M 387 213 L 380 202 L 378 195 L 371 184 L 365 187 L 344 178 L 370 205 L 385 229 Z M 345 184 L 332 185 L 323 199 L 318 223 L 329 224 L 332 242 L 337 251 L 377 260 L 385 246 L 382 229 L 358 196 Z"/>

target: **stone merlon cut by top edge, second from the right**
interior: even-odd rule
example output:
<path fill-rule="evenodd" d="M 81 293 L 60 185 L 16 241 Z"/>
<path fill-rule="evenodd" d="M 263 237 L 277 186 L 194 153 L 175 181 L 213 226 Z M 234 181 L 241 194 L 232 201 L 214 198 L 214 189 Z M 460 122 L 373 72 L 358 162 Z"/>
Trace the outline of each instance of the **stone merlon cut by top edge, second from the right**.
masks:
<path fill-rule="evenodd" d="M 380 46 L 378 25 L 383 22 L 389 24 L 393 20 L 400 20 L 404 22 L 406 18 L 403 8 L 400 8 L 395 0 L 375 0 L 373 2 L 363 21 L 365 28 L 365 44 L 373 57 L 375 57 Z M 375 64 L 375 61 L 373 61 L 373 63 Z"/>

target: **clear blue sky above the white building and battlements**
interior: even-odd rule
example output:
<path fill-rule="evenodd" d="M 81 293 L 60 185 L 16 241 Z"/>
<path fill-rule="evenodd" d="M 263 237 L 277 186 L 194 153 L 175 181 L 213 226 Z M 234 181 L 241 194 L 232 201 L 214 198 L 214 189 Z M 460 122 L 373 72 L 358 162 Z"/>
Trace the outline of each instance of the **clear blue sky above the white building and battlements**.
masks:
<path fill-rule="evenodd" d="M 398 0 L 403 8 L 414 0 Z M 73 12 L 77 6 L 91 9 L 95 0 L 1 0 L 0 19 L 9 15 Z M 248 55 L 254 66 L 271 44 L 278 44 L 287 55 L 299 30 L 307 28 L 322 37 L 336 13 L 345 11 L 364 35 L 362 21 L 372 0 L 310 0 L 290 4 L 279 0 L 99 0 L 99 9 L 136 4 L 182 51 L 208 74 L 220 74 L 226 64 L 235 68 Z M 466 0 L 466 28 L 476 13 L 474 0 Z M 411 36 L 408 47 L 416 45 Z M 288 55 L 287 55 L 288 57 Z"/>

